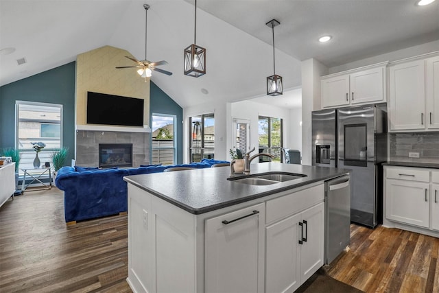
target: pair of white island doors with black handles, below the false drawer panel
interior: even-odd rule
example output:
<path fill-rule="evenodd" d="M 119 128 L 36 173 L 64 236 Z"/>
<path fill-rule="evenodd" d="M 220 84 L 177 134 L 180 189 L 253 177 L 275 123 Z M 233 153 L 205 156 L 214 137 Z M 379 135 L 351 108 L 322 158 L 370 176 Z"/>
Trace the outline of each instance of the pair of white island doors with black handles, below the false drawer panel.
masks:
<path fill-rule="evenodd" d="M 294 292 L 322 266 L 324 203 L 267 226 L 265 292 Z"/>

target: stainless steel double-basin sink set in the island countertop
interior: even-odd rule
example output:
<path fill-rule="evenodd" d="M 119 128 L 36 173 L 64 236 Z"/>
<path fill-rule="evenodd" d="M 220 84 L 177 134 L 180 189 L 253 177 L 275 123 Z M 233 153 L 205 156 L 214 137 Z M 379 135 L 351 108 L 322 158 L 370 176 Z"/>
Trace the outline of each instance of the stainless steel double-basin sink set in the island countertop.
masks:
<path fill-rule="evenodd" d="M 267 172 L 261 174 L 252 174 L 240 177 L 230 177 L 228 180 L 244 183 L 248 185 L 271 185 L 289 180 L 306 177 L 305 174 L 295 174 L 287 172 Z"/>

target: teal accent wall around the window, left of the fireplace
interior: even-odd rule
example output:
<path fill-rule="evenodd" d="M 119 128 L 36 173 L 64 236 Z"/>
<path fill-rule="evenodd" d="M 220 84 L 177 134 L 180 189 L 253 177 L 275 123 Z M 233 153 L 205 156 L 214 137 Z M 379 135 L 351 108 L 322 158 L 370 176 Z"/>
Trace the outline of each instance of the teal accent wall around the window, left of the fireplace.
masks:
<path fill-rule="evenodd" d="M 15 147 L 15 101 L 62 104 L 62 143 L 75 155 L 75 62 L 0 87 L 0 148 Z"/>

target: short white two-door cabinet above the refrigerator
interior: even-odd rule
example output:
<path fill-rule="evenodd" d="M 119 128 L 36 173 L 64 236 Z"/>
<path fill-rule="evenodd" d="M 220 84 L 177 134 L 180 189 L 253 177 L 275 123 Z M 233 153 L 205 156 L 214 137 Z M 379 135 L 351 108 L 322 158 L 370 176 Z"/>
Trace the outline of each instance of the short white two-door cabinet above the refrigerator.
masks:
<path fill-rule="evenodd" d="M 322 108 L 385 102 L 384 66 L 322 77 Z"/>

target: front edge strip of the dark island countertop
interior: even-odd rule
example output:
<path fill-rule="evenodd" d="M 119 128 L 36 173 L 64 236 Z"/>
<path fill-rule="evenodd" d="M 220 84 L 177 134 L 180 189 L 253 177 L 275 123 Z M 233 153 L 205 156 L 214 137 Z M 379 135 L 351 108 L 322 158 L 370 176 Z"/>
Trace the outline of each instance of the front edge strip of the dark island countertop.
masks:
<path fill-rule="evenodd" d="M 179 207 L 180 209 L 183 209 L 189 213 L 192 213 L 193 215 L 200 215 L 202 213 L 208 213 L 209 211 L 215 211 L 217 209 L 222 209 L 224 207 L 231 207 L 235 204 L 240 204 L 242 202 L 248 202 L 250 200 L 255 200 L 257 198 L 263 198 L 264 196 L 270 196 L 271 194 L 277 194 L 277 193 L 282 192 L 282 191 L 287 191 L 289 189 L 295 189 L 297 187 L 302 187 L 305 185 L 309 185 L 311 183 L 316 183 L 319 181 L 325 181 L 325 180 L 329 180 L 332 178 L 337 178 L 337 177 L 343 176 L 344 174 L 348 174 L 348 172 L 340 172 L 340 174 L 335 175 L 335 176 L 334 175 L 322 176 L 320 178 L 310 179 L 310 180 L 307 180 L 305 182 L 300 182 L 300 183 L 296 183 L 293 185 L 278 187 L 276 189 L 261 192 L 259 194 L 253 194 L 252 196 L 246 196 L 245 198 L 239 198 L 236 200 L 229 200 L 227 202 L 221 202 L 219 204 L 212 204 L 212 205 L 209 205 L 208 207 L 203 207 L 203 208 L 199 208 L 199 209 L 190 207 L 187 204 L 183 204 L 182 202 L 180 202 L 178 200 L 174 200 L 173 198 L 169 198 L 168 196 L 165 196 L 164 194 L 161 194 L 153 189 L 147 188 L 144 185 L 141 185 L 134 180 L 130 180 L 130 178 L 128 178 L 128 177 L 123 177 L 123 180 L 125 180 L 128 183 L 131 183 L 134 186 L 139 187 L 140 189 L 143 189 L 147 192 L 150 192 L 150 194 L 153 194 L 154 196 L 157 196 L 158 198 L 161 198 L 161 199 L 163 199 L 171 204 L 174 204 L 176 207 Z"/>

